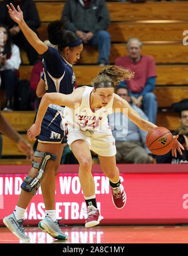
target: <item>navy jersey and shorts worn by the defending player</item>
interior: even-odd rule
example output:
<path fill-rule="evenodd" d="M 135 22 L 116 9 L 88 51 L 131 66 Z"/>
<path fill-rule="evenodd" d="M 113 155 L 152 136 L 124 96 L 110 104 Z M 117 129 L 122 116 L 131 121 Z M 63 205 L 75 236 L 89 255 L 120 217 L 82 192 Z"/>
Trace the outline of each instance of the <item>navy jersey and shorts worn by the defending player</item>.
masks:
<path fill-rule="evenodd" d="M 44 74 L 41 78 L 45 81 L 46 92 L 71 94 L 75 87 L 75 74 L 72 65 L 66 62 L 58 50 L 53 47 L 48 47 L 42 57 Z M 38 136 L 39 142 L 66 142 L 61 124 L 63 109 L 61 106 L 50 104 L 42 121 L 41 133 Z"/>

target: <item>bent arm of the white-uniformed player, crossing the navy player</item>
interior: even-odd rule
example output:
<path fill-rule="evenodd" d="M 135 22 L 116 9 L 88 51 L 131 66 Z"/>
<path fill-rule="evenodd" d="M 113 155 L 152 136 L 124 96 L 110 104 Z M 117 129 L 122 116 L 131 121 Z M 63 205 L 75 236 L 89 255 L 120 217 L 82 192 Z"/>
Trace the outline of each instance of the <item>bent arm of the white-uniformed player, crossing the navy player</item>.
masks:
<path fill-rule="evenodd" d="M 29 128 L 28 130 L 27 134 L 29 140 L 35 140 L 36 136 L 39 135 L 44 114 L 46 113 L 46 110 L 51 103 L 59 106 L 68 106 L 68 108 L 76 108 L 81 104 L 82 94 L 84 90 L 85 89 L 82 87 L 75 89 L 75 91 L 73 91 L 71 94 L 62 94 L 59 92 L 45 93 L 39 104 L 36 120 L 31 128 Z"/>

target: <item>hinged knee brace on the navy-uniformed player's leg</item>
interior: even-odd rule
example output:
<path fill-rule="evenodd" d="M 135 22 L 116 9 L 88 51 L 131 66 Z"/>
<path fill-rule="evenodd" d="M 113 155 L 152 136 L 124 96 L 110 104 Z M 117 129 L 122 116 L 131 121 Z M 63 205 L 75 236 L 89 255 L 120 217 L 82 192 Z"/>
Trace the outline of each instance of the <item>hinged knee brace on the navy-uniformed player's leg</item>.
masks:
<path fill-rule="evenodd" d="M 38 190 L 39 186 L 41 185 L 39 181 L 43 177 L 44 170 L 46 168 L 46 164 L 47 164 L 48 160 L 53 160 L 54 162 L 56 160 L 56 155 L 53 153 L 48 153 L 48 152 L 36 151 L 36 152 L 34 152 L 34 156 L 42 158 L 42 161 L 40 164 L 37 162 L 34 162 L 34 161 L 31 164 L 32 167 L 38 169 L 38 173 L 37 173 L 36 177 L 34 177 L 34 178 L 26 176 L 24 178 L 23 183 L 21 184 L 21 188 L 24 191 L 31 192 L 33 195 L 36 194 L 36 191 Z"/>

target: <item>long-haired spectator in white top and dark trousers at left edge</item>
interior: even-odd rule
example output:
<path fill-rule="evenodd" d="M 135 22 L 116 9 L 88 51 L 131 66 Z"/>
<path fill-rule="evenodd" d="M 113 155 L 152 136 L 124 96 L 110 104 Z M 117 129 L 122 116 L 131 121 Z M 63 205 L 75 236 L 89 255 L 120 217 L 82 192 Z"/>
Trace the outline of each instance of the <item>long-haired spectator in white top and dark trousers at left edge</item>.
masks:
<path fill-rule="evenodd" d="M 14 45 L 8 26 L 0 24 L 0 77 L 1 88 L 6 91 L 4 111 L 13 110 L 14 90 L 18 84 L 18 69 L 21 64 L 19 48 Z"/>

